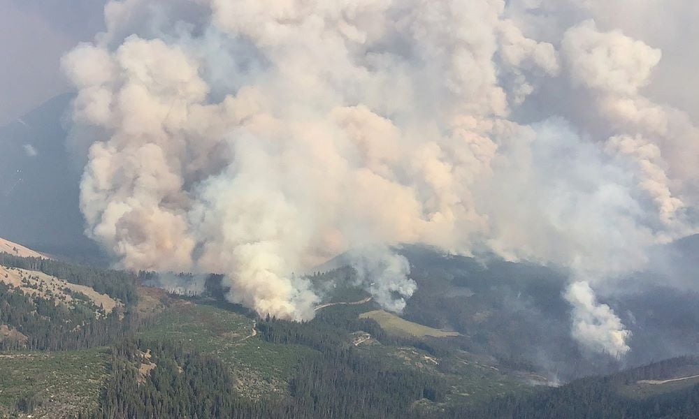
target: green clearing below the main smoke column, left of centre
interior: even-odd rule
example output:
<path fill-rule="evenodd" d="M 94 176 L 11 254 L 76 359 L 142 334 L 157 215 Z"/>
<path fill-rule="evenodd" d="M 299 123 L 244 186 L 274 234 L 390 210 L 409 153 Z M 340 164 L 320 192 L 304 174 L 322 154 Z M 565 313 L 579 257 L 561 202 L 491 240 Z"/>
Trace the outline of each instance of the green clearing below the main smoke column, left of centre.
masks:
<path fill-rule="evenodd" d="M 254 320 L 215 303 L 180 301 L 140 332 L 146 339 L 171 339 L 210 353 L 229 365 L 241 395 L 257 399 L 285 394 L 294 369 L 315 351 L 298 345 L 271 344 L 253 336 Z"/>

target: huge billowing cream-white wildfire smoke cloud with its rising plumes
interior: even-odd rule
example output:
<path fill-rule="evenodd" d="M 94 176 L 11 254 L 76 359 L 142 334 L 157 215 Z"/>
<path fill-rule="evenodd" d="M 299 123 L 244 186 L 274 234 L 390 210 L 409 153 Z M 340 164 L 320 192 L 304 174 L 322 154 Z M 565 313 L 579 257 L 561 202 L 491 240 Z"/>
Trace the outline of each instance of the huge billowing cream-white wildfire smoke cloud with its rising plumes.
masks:
<path fill-rule="evenodd" d="M 294 272 L 339 253 L 400 311 L 391 247 L 488 247 L 584 275 L 574 335 L 623 355 L 591 286 L 690 231 L 698 130 L 643 95 L 661 51 L 577 3 L 112 0 L 64 59 L 88 233 L 294 319 L 318 300 Z"/>

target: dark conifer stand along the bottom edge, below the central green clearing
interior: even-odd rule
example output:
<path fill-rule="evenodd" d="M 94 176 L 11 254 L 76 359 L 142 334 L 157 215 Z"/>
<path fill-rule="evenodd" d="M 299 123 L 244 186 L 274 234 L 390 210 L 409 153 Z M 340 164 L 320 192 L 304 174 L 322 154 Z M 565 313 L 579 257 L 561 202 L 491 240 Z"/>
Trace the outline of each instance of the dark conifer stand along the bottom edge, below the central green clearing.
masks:
<path fill-rule="evenodd" d="M 157 366 L 139 376 L 143 362 Z M 278 400 L 236 396 L 219 360 L 177 344 L 122 341 L 113 348 L 112 371 L 92 418 L 403 418 L 415 401 L 443 396 L 433 379 L 350 349 L 309 360 L 291 379 L 291 396 Z"/>

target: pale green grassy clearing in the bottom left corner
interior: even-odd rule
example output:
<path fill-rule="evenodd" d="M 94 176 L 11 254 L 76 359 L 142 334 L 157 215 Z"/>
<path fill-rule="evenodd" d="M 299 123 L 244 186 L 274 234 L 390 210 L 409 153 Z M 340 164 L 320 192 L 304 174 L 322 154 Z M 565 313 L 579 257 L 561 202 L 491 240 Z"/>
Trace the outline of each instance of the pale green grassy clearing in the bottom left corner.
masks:
<path fill-rule="evenodd" d="M 59 418 L 94 409 L 108 374 L 106 348 L 0 354 L 0 417 L 22 397 L 41 401 L 34 418 Z M 20 416 L 22 417 L 22 416 Z"/>

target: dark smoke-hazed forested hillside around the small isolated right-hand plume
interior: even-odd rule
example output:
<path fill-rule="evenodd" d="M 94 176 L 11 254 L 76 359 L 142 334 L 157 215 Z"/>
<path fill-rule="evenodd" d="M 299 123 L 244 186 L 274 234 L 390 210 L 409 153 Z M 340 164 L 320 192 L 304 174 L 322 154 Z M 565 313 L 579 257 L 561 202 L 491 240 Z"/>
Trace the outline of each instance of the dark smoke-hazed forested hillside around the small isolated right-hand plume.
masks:
<path fill-rule="evenodd" d="M 696 238 L 663 247 L 658 255 L 668 253 L 665 263 L 676 263 L 675 270 L 696 272 L 695 242 Z M 680 278 L 670 277 L 667 270 L 637 272 L 624 280 L 633 284 L 642 277 L 654 286 L 629 285 L 623 292 L 600 297 L 632 333 L 631 351 L 619 362 L 582 351 L 572 338 L 572 307 L 563 298 L 568 272 L 562 268 L 488 255 L 444 256 L 428 247 L 405 247 L 401 252 L 410 260 L 411 276 L 418 284 L 403 318 L 460 332 L 468 351 L 528 365 L 554 381 L 608 374 L 699 348 L 699 294 L 665 286 Z"/>

